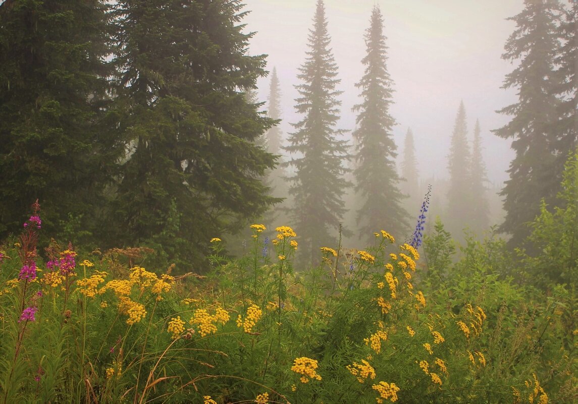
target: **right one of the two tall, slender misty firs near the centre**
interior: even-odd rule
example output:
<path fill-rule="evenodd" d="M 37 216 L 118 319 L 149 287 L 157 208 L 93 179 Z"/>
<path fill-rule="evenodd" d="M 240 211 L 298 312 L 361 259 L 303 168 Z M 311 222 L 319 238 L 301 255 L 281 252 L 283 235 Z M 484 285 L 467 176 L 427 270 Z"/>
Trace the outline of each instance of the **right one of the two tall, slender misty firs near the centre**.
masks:
<path fill-rule="evenodd" d="M 372 10 L 365 46 L 367 54 L 362 59 L 365 73 L 356 84 L 361 88 L 363 102 L 353 108 L 358 111 L 355 121 L 358 128 L 353 136 L 357 139 L 355 190 L 362 197 L 357 220 L 360 236 L 370 238 L 379 230 L 401 234 L 408 225 L 395 168 L 397 146 L 392 134 L 395 119 L 389 112 L 392 80 L 387 72 L 386 36 L 378 6 Z"/>

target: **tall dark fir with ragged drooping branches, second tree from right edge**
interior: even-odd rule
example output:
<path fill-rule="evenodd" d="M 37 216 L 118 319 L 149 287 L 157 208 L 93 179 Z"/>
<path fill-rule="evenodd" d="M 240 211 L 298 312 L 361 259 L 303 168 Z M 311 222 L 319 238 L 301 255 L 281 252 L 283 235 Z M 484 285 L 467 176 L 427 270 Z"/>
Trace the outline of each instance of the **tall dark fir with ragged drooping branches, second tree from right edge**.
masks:
<path fill-rule="evenodd" d="M 544 198 L 551 208 L 560 190 L 563 166 L 557 155 L 562 152 L 565 134 L 556 96 L 560 88 L 555 74 L 555 57 L 560 49 L 559 15 L 558 2 L 526 0 L 524 9 L 509 18 L 516 22 L 516 29 L 506 42 L 502 58 L 520 63 L 506 75 L 502 88 L 517 88 L 518 102 L 499 110 L 512 119 L 494 133 L 513 139 L 516 152 L 507 171 L 510 178 L 501 192 L 506 217 L 500 229 L 512 235 L 512 246 L 521 245 L 529 235 L 527 223 L 540 213 L 540 200 Z M 568 151 L 563 154 L 567 156 Z"/>

